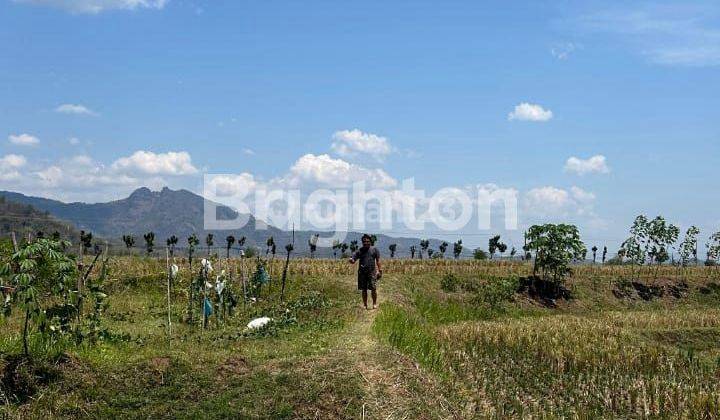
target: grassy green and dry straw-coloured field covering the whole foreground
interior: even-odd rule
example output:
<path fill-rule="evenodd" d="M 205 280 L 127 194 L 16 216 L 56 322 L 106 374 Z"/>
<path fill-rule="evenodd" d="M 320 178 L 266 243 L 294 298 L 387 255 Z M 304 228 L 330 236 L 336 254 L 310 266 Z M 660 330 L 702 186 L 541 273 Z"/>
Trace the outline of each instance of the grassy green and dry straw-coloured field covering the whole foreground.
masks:
<path fill-rule="evenodd" d="M 24 378 L 21 397 L 6 374 L 21 322 L 0 324 L 0 418 L 720 416 L 714 268 L 661 267 L 657 279 L 645 269 L 634 280 L 686 286 L 646 301 L 617 293 L 630 287 L 628 267 L 576 266 L 572 299 L 548 307 L 505 281 L 530 274 L 530 264 L 387 260 L 380 309 L 365 311 L 357 268 L 343 260 L 291 260 L 281 302 L 278 259 L 256 302 L 203 329 L 183 322 L 190 269 L 177 263 L 170 329 L 165 261 L 115 258 L 103 319 L 111 338 L 34 343 L 47 374 Z M 215 267 L 237 290 L 253 264 Z M 446 291 L 449 274 L 457 287 Z M 249 332 L 259 316 L 275 322 Z"/>

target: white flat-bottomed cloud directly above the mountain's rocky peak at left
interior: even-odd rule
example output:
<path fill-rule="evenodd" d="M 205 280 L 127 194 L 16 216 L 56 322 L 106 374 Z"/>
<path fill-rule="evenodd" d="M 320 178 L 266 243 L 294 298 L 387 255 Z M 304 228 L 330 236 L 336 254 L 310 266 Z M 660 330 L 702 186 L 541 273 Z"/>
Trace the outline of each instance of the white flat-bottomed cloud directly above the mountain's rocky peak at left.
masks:
<path fill-rule="evenodd" d="M 153 153 L 145 150 L 116 160 L 111 168 L 131 175 L 192 175 L 198 172 L 188 152 Z"/>

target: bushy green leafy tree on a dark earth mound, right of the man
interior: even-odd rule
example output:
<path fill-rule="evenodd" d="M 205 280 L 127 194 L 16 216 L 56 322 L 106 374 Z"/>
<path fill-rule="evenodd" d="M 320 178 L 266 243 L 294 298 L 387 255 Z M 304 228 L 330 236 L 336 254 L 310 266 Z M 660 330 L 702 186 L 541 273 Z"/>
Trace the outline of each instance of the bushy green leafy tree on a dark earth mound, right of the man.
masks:
<path fill-rule="evenodd" d="M 566 224 L 533 225 L 528 230 L 528 247 L 535 250 L 533 272 L 541 270 L 545 279 L 562 283 L 572 271 L 569 264 L 587 252 L 577 226 Z"/>

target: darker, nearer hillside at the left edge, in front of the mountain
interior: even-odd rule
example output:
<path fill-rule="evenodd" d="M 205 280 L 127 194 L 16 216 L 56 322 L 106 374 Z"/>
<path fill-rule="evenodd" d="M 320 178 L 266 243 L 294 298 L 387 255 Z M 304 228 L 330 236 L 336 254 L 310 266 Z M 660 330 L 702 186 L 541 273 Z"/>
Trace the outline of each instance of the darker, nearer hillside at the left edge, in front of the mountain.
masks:
<path fill-rule="evenodd" d="M 15 232 L 18 240 L 38 232 L 46 235 L 59 233 L 63 239 L 77 242 L 80 233 L 68 222 L 58 220 L 47 211 L 36 209 L 30 204 L 7 200 L 0 196 L 0 238 L 7 238 Z"/>

